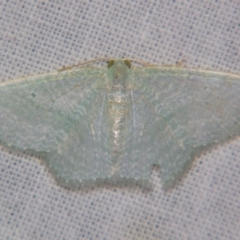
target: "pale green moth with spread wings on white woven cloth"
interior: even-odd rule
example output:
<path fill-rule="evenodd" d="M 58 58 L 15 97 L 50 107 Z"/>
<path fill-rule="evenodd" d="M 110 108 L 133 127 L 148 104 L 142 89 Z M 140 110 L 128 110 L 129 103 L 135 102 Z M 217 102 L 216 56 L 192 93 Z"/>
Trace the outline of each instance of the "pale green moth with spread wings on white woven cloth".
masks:
<path fill-rule="evenodd" d="M 40 153 L 59 179 L 165 187 L 204 146 L 240 133 L 240 77 L 110 61 L 0 84 L 0 141 Z"/>

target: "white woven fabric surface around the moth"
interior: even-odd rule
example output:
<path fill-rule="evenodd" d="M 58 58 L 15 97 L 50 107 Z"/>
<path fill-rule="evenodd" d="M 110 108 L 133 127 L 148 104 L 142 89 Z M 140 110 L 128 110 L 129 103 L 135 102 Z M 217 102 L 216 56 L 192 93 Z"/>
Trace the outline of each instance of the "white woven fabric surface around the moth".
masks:
<path fill-rule="evenodd" d="M 240 2 L 2 0 L 0 46 L 0 80 L 99 57 L 239 74 Z M 2 149 L 0 239 L 240 239 L 239 139 L 196 158 L 171 191 L 159 175 L 150 191 L 72 191 Z"/>

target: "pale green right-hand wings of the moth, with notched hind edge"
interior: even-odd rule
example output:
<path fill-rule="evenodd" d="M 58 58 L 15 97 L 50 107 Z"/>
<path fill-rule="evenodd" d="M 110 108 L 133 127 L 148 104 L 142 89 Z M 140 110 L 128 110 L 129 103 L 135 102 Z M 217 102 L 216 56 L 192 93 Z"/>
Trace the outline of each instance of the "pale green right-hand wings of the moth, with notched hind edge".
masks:
<path fill-rule="evenodd" d="M 144 165 L 142 173 L 159 165 L 165 187 L 181 176 L 197 150 L 239 135 L 237 76 L 145 68 L 134 71 L 129 88 L 133 109 L 129 155 Z"/>

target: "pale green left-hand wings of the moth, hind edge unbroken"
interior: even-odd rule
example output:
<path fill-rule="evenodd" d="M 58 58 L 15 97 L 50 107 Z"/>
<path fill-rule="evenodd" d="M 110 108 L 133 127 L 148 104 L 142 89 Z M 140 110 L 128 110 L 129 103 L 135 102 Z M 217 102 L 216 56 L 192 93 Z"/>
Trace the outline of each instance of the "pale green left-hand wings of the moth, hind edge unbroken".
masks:
<path fill-rule="evenodd" d="M 66 182 L 108 176 L 105 86 L 105 70 L 92 68 L 2 83 L 0 140 L 42 152 Z"/>

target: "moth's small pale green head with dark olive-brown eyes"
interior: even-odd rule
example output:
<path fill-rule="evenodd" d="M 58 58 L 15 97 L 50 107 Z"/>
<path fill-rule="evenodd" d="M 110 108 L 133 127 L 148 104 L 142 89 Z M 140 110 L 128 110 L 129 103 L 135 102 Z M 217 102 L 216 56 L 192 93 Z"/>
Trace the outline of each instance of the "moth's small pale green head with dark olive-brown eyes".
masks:
<path fill-rule="evenodd" d="M 130 68 L 131 62 L 129 60 L 108 61 L 109 74 L 113 79 L 126 79 Z"/>

